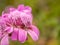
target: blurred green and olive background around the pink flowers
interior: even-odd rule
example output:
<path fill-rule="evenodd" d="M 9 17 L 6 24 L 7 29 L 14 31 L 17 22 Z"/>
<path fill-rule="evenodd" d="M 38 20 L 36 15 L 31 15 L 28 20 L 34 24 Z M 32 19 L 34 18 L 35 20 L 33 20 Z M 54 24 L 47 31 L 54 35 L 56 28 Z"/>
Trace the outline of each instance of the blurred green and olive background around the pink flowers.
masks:
<path fill-rule="evenodd" d="M 7 6 L 19 4 L 32 8 L 33 24 L 39 28 L 39 40 L 31 37 L 21 44 L 10 41 L 10 45 L 60 45 L 60 0 L 0 0 L 0 15 Z"/>

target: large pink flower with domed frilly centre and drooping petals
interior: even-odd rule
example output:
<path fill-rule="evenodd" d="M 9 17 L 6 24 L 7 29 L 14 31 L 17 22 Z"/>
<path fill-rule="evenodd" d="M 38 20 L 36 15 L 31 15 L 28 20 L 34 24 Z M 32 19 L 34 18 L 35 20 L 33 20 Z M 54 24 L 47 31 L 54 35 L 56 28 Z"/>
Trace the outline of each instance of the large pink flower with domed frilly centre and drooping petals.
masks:
<path fill-rule="evenodd" d="M 7 13 L 3 11 L 2 18 L 5 20 L 6 25 L 11 28 L 7 31 L 12 34 L 12 40 L 24 43 L 28 37 L 27 34 L 33 40 L 38 40 L 39 31 L 32 24 L 32 9 L 29 6 L 19 5 L 17 9 L 9 8 L 7 11 Z"/>

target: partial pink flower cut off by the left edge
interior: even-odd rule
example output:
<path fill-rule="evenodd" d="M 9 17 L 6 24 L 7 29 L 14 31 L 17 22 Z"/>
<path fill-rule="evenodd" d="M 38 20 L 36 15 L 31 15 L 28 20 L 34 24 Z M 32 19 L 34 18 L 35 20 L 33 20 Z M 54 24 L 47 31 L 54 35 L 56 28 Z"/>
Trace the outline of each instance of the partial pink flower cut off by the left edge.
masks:
<path fill-rule="evenodd" d="M 0 45 L 8 45 L 9 44 L 9 36 L 6 30 L 6 24 L 4 20 L 0 17 Z"/>

